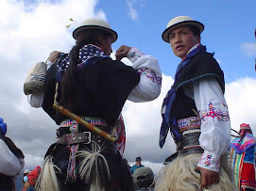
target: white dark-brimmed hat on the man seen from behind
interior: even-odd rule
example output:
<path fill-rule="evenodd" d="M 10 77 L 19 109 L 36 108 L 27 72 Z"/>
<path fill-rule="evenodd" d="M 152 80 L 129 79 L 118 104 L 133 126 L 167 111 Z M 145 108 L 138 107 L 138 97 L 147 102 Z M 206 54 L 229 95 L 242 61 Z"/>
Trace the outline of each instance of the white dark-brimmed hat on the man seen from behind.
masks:
<path fill-rule="evenodd" d="M 80 31 L 84 29 L 89 29 L 89 28 L 98 28 L 101 30 L 108 31 L 111 33 L 111 36 L 113 37 L 113 41 L 117 40 L 117 33 L 111 29 L 111 25 L 108 24 L 107 22 L 101 20 L 101 19 L 96 19 L 96 18 L 91 18 L 83 21 L 74 31 L 73 31 L 73 38 L 77 40 L 77 35 Z"/>

